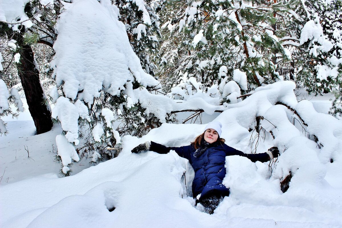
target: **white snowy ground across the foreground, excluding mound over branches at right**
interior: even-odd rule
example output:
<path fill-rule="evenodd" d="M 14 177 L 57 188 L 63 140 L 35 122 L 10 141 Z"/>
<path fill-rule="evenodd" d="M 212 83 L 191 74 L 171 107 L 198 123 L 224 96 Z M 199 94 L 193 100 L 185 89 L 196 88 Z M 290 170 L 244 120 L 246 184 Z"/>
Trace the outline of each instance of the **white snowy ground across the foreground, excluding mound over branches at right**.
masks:
<path fill-rule="evenodd" d="M 236 109 L 227 111 L 234 113 Z M 54 139 L 61 128 L 55 125 L 50 132 L 35 135 L 27 113 L 18 120 L 5 119 L 10 133 L 0 137 L 1 227 L 342 227 L 338 160 L 325 165 L 312 163 L 316 166 L 312 170 L 303 167 L 300 171 L 304 175 L 298 171 L 289 190 L 282 193 L 279 179 L 269 177 L 268 164 L 227 157 L 224 184 L 230 187 L 231 195 L 208 215 L 196 210 L 190 197 L 193 170 L 187 160 L 172 151 L 167 155 L 130 152 L 146 140 L 187 145 L 202 125 L 163 124 L 140 139 L 125 136 L 117 158 L 93 167 L 80 161 L 74 164 L 72 176 L 61 178 L 60 165 L 53 161 Z M 204 116 L 207 122 L 217 117 Z M 229 145 L 248 152 L 251 135 L 240 140 L 238 136 L 228 138 L 234 131 L 225 125 L 223 132 Z M 265 138 L 260 146 L 272 143 Z M 286 151 L 281 156 L 286 158 L 287 153 L 291 155 Z M 312 158 L 307 156 L 307 160 Z M 113 207 L 116 209 L 109 212 Z"/>

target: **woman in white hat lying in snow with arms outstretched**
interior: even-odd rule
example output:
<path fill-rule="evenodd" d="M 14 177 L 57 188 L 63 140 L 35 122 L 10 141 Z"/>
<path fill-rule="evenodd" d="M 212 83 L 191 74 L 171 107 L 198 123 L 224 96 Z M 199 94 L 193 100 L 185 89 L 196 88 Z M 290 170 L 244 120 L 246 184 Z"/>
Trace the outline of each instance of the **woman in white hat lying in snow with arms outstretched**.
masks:
<path fill-rule="evenodd" d="M 277 147 L 269 148 L 265 153 L 246 154 L 224 144 L 225 140 L 220 138 L 222 133 L 220 122 L 210 122 L 204 132 L 197 136 L 189 146 L 166 147 L 155 142 L 145 142 L 132 149 L 133 153 L 145 150 L 157 153 L 168 153 L 170 150 L 189 160 L 194 168 L 195 177 L 192 191 L 196 197 L 196 203 L 203 212 L 212 214 L 223 197 L 229 196 L 229 189 L 222 184 L 226 175 L 225 157 L 239 155 L 247 157 L 252 162 L 267 162 L 278 157 Z"/>

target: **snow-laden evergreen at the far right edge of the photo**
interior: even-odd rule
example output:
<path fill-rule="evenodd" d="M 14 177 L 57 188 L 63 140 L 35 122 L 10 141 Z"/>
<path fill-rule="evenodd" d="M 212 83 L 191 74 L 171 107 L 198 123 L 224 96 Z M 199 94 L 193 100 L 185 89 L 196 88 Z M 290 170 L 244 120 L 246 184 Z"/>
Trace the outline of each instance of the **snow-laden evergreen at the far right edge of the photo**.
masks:
<path fill-rule="evenodd" d="M 314 95 L 334 92 L 334 115 L 341 100 L 341 14 L 341 1 L 302 1 L 284 18 L 282 40 L 292 56 L 287 79 Z"/>

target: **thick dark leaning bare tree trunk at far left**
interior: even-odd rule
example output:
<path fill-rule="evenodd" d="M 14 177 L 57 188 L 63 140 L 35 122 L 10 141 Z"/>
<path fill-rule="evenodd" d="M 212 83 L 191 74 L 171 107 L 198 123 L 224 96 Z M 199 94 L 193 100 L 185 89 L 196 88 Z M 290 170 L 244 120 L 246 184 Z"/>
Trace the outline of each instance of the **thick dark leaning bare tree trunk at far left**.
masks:
<path fill-rule="evenodd" d="M 52 128 L 51 112 L 45 105 L 43 89 L 39 81 L 39 71 L 34 63 L 32 48 L 24 43 L 24 26 L 20 30 L 21 32 L 15 32 L 13 37 L 17 41 L 18 48 L 20 48 L 20 63 L 17 64 L 18 75 L 25 92 L 28 110 L 35 122 L 37 134 L 41 134 L 50 131 Z"/>

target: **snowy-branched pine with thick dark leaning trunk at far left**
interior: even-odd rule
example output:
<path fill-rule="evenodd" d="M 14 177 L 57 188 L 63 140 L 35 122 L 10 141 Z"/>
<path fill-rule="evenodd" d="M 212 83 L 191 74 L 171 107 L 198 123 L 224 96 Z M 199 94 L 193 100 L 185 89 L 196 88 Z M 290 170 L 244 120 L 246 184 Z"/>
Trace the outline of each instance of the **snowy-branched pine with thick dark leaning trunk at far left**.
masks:
<path fill-rule="evenodd" d="M 6 68 L 1 71 L 1 78 L 11 88 L 17 82 L 12 81 L 13 67 L 16 67 L 37 134 L 49 131 L 52 120 L 32 45 L 40 42 L 52 47 L 56 37 L 54 25 L 62 7 L 61 1 L 1 2 L 0 36 L 2 51 L 8 60 Z M 16 77 L 16 72 L 14 74 Z"/>

